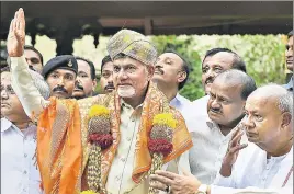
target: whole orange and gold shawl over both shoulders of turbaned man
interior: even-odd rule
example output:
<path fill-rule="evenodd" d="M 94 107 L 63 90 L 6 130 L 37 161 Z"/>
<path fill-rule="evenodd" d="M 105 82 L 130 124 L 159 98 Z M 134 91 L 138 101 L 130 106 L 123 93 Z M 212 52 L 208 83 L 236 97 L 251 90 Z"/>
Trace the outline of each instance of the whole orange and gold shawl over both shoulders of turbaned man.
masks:
<path fill-rule="evenodd" d="M 113 145 L 103 151 L 102 175 L 106 182 L 109 170 L 121 140 L 121 103 L 116 93 L 79 100 L 50 99 L 50 105 L 44 110 L 38 121 L 37 162 L 45 193 L 75 194 L 81 189 L 81 172 L 84 171 L 89 150 L 88 113 L 92 105 L 105 105 L 111 111 L 111 132 Z M 151 156 L 148 150 L 148 137 L 155 115 L 169 106 L 167 98 L 155 85 L 149 84 L 135 148 L 133 180 L 138 183 L 150 169 Z M 170 107 L 178 121 L 173 133 L 173 151 L 165 157 L 165 163 L 179 157 L 192 147 L 192 140 L 181 114 Z M 87 171 L 84 171 L 87 173 Z M 87 175 L 83 173 L 83 178 Z M 83 179 L 83 181 L 86 181 Z M 87 186 L 86 186 L 87 187 Z"/>

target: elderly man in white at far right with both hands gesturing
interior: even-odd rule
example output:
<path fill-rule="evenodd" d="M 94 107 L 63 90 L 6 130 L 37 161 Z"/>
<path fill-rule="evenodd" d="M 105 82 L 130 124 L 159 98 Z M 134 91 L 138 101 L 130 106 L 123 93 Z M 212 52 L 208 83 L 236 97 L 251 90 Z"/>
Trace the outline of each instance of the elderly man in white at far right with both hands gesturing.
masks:
<path fill-rule="evenodd" d="M 204 187 L 202 194 L 293 193 L 293 95 L 280 85 L 264 85 L 249 95 L 245 111 L 214 185 L 203 186 L 193 178 L 190 187 L 177 194 L 201 193 Z M 248 146 L 240 142 L 244 130 Z M 169 172 L 157 173 L 155 180 L 177 182 Z"/>

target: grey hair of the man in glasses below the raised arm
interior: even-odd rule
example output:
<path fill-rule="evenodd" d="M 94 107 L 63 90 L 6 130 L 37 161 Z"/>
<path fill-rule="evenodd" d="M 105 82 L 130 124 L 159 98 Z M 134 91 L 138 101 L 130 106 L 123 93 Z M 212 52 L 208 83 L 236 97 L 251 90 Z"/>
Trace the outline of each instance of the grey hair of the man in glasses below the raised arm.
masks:
<path fill-rule="evenodd" d="M 41 93 L 41 95 L 47 100 L 50 96 L 50 88 L 48 85 L 48 83 L 44 80 L 43 76 L 41 76 L 38 72 L 33 71 L 31 69 L 29 69 L 29 72 L 34 81 L 34 84 L 36 87 L 36 89 L 38 90 L 38 92 Z"/>

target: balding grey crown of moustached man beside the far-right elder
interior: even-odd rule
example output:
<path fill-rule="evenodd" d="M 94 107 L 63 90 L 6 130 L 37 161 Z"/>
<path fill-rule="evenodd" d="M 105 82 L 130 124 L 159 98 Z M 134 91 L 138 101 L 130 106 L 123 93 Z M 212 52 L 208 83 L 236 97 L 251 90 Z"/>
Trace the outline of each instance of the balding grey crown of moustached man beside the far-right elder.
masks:
<path fill-rule="evenodd" d="M 240 85 L 240 95 L 244 100 L 246 100 L 257 89 L 255 80 L 247 73 L 237 69 L 230 69 L 218 75 L 214 82 L 227 87 Z"/>

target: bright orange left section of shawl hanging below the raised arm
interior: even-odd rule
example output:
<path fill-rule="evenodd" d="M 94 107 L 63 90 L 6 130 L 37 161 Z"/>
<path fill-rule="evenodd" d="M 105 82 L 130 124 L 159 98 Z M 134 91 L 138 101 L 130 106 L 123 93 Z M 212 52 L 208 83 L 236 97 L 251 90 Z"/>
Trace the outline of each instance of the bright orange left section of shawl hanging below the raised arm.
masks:
<path fill-rule="evenodd" d="M 37 125 L 37 164 L 46 194 L 80 191 L 81 129 L 76 100 L 50 98 Z"/>

